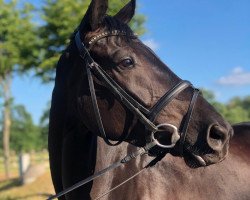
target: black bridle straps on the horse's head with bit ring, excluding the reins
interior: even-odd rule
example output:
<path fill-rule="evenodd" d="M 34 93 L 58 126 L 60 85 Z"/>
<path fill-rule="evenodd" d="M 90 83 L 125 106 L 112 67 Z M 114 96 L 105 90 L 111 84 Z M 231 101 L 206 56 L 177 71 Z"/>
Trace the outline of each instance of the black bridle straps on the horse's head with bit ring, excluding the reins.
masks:
<path fill-rule="evenodd" d="M 112 31 L 112 32 L 104 32 L 102 34 L 99 34 L 92 38 L 89 42 L 89 45 L 93 45 L 96 41 L 98 41 L 101 38 L 109 37 L 109 36 L 119 36 L 119 35 L 126 35 L 126 33 L 121 31 Z M 130 35 L 131 37 L 135 37 L 134 35 Z M 123 142 L 127 139 L 129 133 L 122 135 L 118 142 L 112 143 L 104 130 L 100 110 L 97 104 L 97 98 L 95 94 L 95 86 L 92 74 L 96 76 L 104 85 L 109 89 L 110 92 L 113 93 L 113 95 L 123 104 L 125 105 L 139 120 L 142 124 L 144 124 L 147 131 L 151 132 L 151 141 L 155 141 L 156 145 L 162 147 L 162 148 L 172 148 L 175 146 L 176 142 L 180 140 L 180 152 L 183 152 L 183 144 L 186 138 L 188 126 L 191 120 L 193 108 L 196 102 L 196 99 L 199 94 L 199 90 L 194 88 L 192 84 L 189 81 L 180 81 L 178 84 L 176 84 L 173 88 L 171 88 L 169 91 L 167 91 L 159 100 L 158 102 L 150 109 L 145 108 L 142 104 L 140 104 L 138 101 L 136 101 L 131 95 L 129 95 L 121 86 L 119 86 L 91 57 L 89 50 L 86 48 L 84 43 L 81 41 L 80 38 L 80 32 L 78 31 L 75 35 L 75 43 L 77 46 L 77 49 L 79 51 L 80 57 L 85 62 L 86 71 L 87 71 L 87 77 L 88 77 L 88 83 L 89 83 L 89 90 L 91 94 L 91 100 L 93 104 L 94 114 L 95 118 L 98 124 L 98 128 L 100 131 L 100 134 L 104 141 L 111 146 L 115 146 Z M 188 110 L 186 115 L 183 117 L 183 120 L 181 122 L 181 126 L 179 130 L 172 124 L 164 123 L 155 125 L 154 121 L 156 117 L 159 115 L 161 110 L 165 108 L 179 93 L 184 91 L 186 88 L 191 87 L 193 88 L 193 96 L 190 101 Z M 159 141 L 154 137 L 155 133 L 160 131 L 161 127 L 170 127 L 172 128 L 173 134 L 170 145 L 163 145 L 160 144 Z M 180 134 L 179 134 L 180 132 Z"/>

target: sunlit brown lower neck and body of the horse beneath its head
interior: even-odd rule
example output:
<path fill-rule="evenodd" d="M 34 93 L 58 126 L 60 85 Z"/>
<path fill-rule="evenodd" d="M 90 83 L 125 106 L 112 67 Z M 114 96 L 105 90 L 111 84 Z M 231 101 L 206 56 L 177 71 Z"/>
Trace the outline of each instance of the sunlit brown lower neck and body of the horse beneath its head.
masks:
<path fill-rule="evenodd" d="M 127 143 L 110 147 L 101 138 L 98 138 L 97 143 L 96 172 L 136 150 L 136 147 Z M 182 158 L 166 155 L 154 167 L 144 170 L 103 199 L 232 199 L 233 195 L 238 195 L 238 183 L 245 190 L 250 178 L 247 165 L 237 161 L 233 150 L 225 161 L 199 169 L 190 169 Z M 94 181 L 92 198 L 135 174 L 150 159 L 148 156 L 138 158 Z M 239 173 L 238 169 L 244 169 L 244 173 Z M 235 182 L 235 178 L 241 181 Z"/>

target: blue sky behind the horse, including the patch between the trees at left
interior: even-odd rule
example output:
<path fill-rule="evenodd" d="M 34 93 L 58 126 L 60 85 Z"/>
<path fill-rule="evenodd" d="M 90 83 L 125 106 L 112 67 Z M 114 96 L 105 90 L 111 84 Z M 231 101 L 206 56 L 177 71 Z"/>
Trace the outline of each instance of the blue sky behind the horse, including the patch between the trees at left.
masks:
<path fill-rule="evenodd" d="M 182 79 L 227 102 L 250 95 L 249 9 L 248 0 L 139 0 L 138 12 L 147 16 L 141 39 Z M 28 76 L 14 77 L 12 87 L 15 103 L 36 123 L 52 89 Z"/>

